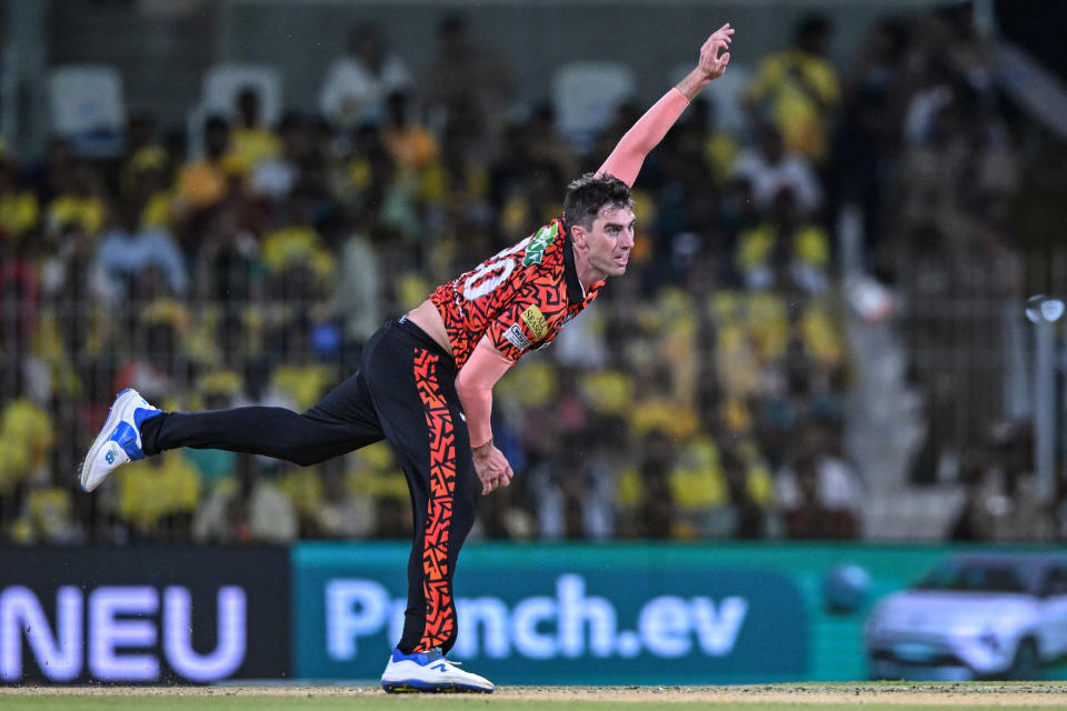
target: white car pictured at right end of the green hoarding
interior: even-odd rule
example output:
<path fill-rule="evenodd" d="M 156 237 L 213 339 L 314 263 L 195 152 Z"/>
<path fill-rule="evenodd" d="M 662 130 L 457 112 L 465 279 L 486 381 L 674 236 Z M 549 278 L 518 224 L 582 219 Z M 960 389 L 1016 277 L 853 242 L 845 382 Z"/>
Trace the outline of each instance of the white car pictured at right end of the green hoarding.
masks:
<path fill-rule="evenodd" d="M 879 602 L 864 642 L 874 679 L 1038 679 L 1067 654 L 1067 555 L 954 555 Z"/>

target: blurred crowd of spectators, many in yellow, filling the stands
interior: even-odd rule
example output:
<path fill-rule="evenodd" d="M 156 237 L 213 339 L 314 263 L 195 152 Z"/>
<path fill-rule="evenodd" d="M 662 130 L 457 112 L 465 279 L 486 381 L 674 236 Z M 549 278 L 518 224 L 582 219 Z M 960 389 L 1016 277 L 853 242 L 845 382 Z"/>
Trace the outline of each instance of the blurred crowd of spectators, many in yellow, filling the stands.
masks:
<path fill-rule="evenodd" d="M 831 31 L 805 18 L 754 64 L 746 130 L 717 124 L 712 87 L 651 154 L 630 273 L 497 388 L 517 475 L 476 535 L 862 534 L 838 211 L 862 206 L 864 261 L 887 280 L 947 289 L 937 270 L 980 250 L 1010 289 L 1018 179 L 966 13 L 879 22 L 842 67 Z M 409 535 L 385 443 L 312 468 L 168 451 L 92 497 L 74 472 L 127 385 L 164 409 L 307 409 L 385 319 L 555 217 L 644 109 L 579 150 L 549 103 L 508 110 L 506 59 L 460 18 L 438 39 L 417 73 L 361 24 L 317 110 L 265 126 L 242 91 L 196 157 L 149 113 L 120 156 L 62 138 L 40 162 L 0 154 L 0 541 Z M 897 272 L 908 249 L 926 259 Z"/>

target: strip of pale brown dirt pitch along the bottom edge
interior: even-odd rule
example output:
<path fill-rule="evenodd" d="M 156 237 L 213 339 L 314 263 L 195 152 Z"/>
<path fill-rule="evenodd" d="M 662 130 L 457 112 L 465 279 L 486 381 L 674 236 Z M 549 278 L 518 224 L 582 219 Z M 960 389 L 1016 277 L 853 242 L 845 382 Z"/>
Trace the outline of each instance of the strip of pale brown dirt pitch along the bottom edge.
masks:
<path fill-rule="evenodd" d="M 385 695 L 378 687 L 0 687 L 6 694 L 150 697 L 351 697 Z M 909 705 L 1048 705 L 1067 708 L 1064 683 L 776 684 L 748 687 L 500 687 L 489 699 L 555 701 L 698 701 L 785 703 L 898 703 Z"/>

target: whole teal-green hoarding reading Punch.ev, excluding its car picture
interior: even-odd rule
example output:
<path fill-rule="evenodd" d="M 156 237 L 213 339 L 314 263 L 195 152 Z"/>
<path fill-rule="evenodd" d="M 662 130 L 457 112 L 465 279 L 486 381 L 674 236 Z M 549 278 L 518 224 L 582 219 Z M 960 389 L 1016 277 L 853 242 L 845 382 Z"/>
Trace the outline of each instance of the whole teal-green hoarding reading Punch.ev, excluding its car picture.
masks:
<path fill-rule="evenodd" d="M 471 543 L 449 657 L 503 684 L 866 679 L 874 604 L 953 550 Z M 407 558 L 399 543 L 293 549 L 296 678 L 380 675 L 400 637 Z"/>

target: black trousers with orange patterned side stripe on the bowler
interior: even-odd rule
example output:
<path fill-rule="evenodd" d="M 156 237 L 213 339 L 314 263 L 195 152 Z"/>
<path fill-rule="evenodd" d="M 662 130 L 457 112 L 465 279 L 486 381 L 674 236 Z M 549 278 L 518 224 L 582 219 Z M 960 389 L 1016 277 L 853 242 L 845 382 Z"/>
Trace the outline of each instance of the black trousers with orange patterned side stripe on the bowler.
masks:
<path fill-rule="evenodd" d="M 178 447 L 266 454 L 315 464 L 381 439 L 403 469 L 415 513 L 401 651 L 445 652 L 456 642 L 452 575 L 480 491 L 456 367 L 417 326 L 386 323 L 363 349 L 363 369 L 298 414 L 285 408 L 166 412 L 141 428 L 146 454 Z"/>

